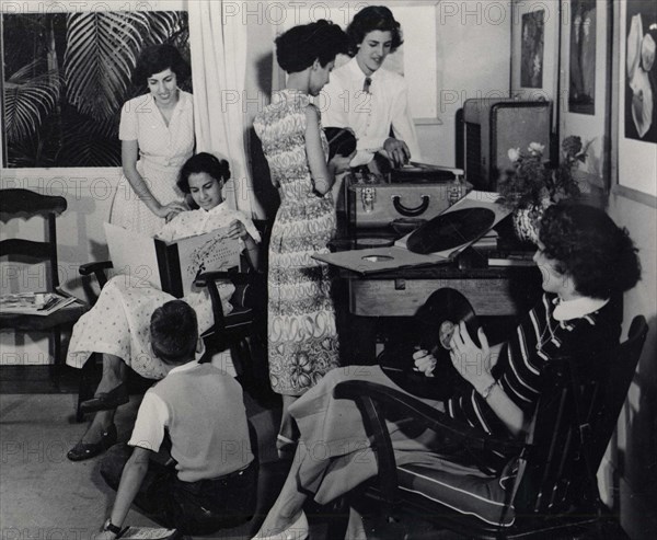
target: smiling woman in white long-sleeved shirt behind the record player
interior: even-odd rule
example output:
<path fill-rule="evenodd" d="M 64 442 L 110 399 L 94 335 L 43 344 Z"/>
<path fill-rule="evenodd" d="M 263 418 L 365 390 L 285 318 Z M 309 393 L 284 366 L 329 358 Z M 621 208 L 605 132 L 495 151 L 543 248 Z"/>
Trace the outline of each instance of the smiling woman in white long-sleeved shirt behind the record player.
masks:
<path fill-rule="evenodd" d="M 369 163 L 379 151 L 397 166 L 411 157 L 418 160 L 406 81 L 382 67 L 403 43 L 400 23 L 384 5 L 368 5 L 354 15 L 347 35 L 353 58 L 324 89 L 325 125 L 355 131 L 358 153 L 353 165 Z"/>

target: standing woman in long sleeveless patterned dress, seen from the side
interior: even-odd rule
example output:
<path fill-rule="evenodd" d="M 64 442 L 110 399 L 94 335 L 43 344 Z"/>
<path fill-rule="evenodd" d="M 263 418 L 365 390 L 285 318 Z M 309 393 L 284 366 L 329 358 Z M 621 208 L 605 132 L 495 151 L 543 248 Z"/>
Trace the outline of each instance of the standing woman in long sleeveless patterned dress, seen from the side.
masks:
<path fill-rule="evenodd" d="M 335 56 L 346 50 L 345 33 L 324 20 L 280 35 L 276 59 L 288 73 L 287 87 L 254 120 L 280 194 L 269 242 L 267 313 L 269 379 L 283 395 L 279 449 L 293 445 L 289 405 L 338 366 L 328 267 L 311 255 L 328 251 L 335 232 L 331 186 L 350 157 L 326 163 L 328 145 L 310 96 L 319 95 Z"/>

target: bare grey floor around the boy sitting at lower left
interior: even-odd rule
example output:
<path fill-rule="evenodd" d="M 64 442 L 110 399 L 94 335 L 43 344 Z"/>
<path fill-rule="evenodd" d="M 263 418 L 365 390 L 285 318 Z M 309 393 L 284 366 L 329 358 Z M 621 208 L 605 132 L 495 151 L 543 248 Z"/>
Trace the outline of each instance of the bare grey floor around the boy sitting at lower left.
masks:
<path fill-rule="evenodd" d="M 122 406 L 116 415 L 119 440 L 129 436 L 139 395 Z M 249 539 L 262 519 L 287 474 L 289 463 L 277 459 L 276 409 L 264 409 L 246 397 L 250 417 L 258 433 L 261 476 L 258 507 L 250 524 L 219 531 L 212 538 Z M 3 540 L 91 540 L 112 508 L 114 492 L 100 475 L 101 457 L 73 463 L 66 458 L 85 424 L 74 422 L 72 393 L 0 395 L 0 522 Z M 307 508 L 311 539 L 326 538 L 326 509 Z M 127 524 L 155 526 L 148 517 L 130 510 Z M 388 528 L 387 528 L 388 529 Z M 399 526 L 368 538 L 404 538 Z M 392 535 L 392 536 L 391 536 Z M 400 536 L 401 535 L 401 536 Z M 414 538 L 436 538 L 414 536 Z"/>

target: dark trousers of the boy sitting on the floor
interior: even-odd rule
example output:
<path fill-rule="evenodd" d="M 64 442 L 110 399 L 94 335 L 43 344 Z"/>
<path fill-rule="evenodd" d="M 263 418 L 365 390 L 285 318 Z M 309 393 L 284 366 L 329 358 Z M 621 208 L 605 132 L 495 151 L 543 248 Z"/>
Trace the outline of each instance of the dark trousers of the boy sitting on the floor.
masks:
<path fill-rule="evenodd" d="M 101 464 L 101 475 L 113 490 L 132 448 L 114 445 Z M 135 497 L 135 505 L 165 527 L 183 535 L 209 535 L 221 528 L 237 527 L 253 516 L 255 508 L 257 463 L 219 479 L 183 482 L 173 464 L 164 464 L 153 453 L 148 472 Z"/>

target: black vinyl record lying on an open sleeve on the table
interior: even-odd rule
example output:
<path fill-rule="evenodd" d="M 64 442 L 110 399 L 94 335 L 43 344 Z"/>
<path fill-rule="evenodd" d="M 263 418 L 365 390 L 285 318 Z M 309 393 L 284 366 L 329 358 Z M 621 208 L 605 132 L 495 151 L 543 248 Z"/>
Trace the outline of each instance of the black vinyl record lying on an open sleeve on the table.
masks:
<path fill-rule="evenodd" d="M 476 240 L 494 222 L 495 212 L 489 208 L 448 211 L 416 229 L 406 240 L 406 246 L 413 253 L 423 255 L 451 250 Z"/>

